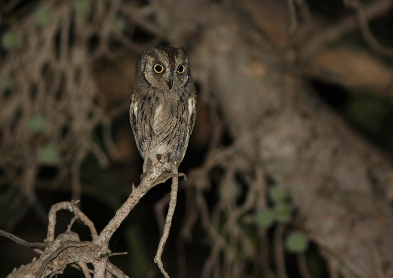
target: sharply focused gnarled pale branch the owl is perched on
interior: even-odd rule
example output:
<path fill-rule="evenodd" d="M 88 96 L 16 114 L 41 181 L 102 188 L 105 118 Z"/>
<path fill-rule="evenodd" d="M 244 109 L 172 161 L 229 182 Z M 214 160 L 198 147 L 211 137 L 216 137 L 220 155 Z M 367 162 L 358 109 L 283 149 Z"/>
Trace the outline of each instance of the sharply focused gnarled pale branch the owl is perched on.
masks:
<path fill-rule="evenodd" d="M 170 176 L 172 176 L 172 189 L 164 233 L 159 242 L 154 262 L 157 263 L 163 275 L 169 278 L 168 273 L 164 269 L 161 256 L 164 251 L 164 245 L 168 239 L 169 229 L 176 207 L 178 177 L 184 176 L 184 174 L 178 174 L 177 167 L 169 162 L 163 164 L 158 163 L 151 169 L 148 175 L 143 178 L 138 187 L 133 185 L 133 190 L 128 199 L 117 210 L 115 216 L 113 216 L 99 235 L 97 234 L 93 222 L 91 222 L 91 220 L 76 206 L 78 203 L 77 201 L 60 202 L 52 206 L 49 212 L 48 233 L 44 244 L 29 244 L 22 239 L 0 231 L 0 235 L 6 236 L 19 244 L 28 247 L 46 247 L 38 259 L 34 259 L 31 263 L 15 269 L 7 277 L 52 277 L 55 274 L 61 274 L 68 264 L 74 263 L 80 267 L 86 277 L 90 277 L 89 273 L 91 272 L 94 273 L 95 278 L 106 277 L 106 272 L 111 273 L 114 277 L 127 277 L 121 270 L 108 262 L 110 256 L 124 254 L 112 253 L 109 249 L 109 241 L 113 233 L 135 205 L 139 203 L 140 199 L 147 191 L 157 185 L 157 181 L 165 173 L 170 173 Z M 55 239 L 56 213 L 60 210 L 73 212 L 74 217 L 71 219 L 67 230 L 60 233 Z M 77 219 L 81 220 L 89 228 L 92 241 L 81 242 L 78 234 L 71 231 L 72 225 Z M 93 264 L 94 271 L 88 269 L 87 263 Z"/>

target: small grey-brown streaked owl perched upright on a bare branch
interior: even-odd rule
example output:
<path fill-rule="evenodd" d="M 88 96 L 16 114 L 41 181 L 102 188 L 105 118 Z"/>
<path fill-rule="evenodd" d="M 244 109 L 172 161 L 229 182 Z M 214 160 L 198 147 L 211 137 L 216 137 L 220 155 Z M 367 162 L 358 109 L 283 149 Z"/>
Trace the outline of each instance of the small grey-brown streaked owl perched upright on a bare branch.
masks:
<path fill-rule="evenodd" d="M 196 90 L 183 48 L 143 51 L 136 65 L 130 104 L 130 123 L 143 158 L 142 177 L 163 155 L 179 166 L 195 118 Z"/>

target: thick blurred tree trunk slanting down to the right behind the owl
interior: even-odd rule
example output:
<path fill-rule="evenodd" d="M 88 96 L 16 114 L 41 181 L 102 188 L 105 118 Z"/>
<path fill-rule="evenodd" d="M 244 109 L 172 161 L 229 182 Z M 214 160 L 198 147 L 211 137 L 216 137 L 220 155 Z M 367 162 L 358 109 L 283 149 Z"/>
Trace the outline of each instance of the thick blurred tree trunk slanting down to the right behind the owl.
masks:
<path fill-rule="evenodd" d="M 290 192 L 309 237 L 342 273 L 393 277 L 390 162 L 285 71 L 239 7 L 189 16 L 202 5 L 160 1 L 158 20 L 171 43 L 193 38 L 193 76 L 217 99 L 234 140 L 254 134 L 245 151 Z"/>

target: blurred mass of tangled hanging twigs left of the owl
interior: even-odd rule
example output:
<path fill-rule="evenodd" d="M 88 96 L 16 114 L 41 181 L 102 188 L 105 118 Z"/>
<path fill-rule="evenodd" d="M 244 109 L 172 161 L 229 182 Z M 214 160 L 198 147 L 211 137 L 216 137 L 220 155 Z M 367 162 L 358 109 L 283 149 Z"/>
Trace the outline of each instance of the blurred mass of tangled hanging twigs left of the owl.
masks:
<path fill-rule="evenodd" d="M 139 52 L 146 47 L 124 34 L 127 28 L 132 35 L 139 24 L 125 16 L 130 9 L 120 0 L 42 1 L 3 35 L 10 42 L 4 39 L 8 48 L 0 61 L 0 167 L 12 187 L 1 201 L 13 200 L 17 211 L 7 229 L 30 206 L 46 221 L 35 195 L 42 166 L 56 169 L 54 187 L 69 179 L 72 199 L 79 199 L 87 155 L 93 154 L 101 167 L 108 165 L 109 156 L 118 155 L 111 135 L 118 109 L 107 111 L 92 63 L 115 59 L 121 49 Z M 113 42 L 122 47 L 113 47 Z M 96 138 L 97 126 L 103 127 L 104 146 Z"/>

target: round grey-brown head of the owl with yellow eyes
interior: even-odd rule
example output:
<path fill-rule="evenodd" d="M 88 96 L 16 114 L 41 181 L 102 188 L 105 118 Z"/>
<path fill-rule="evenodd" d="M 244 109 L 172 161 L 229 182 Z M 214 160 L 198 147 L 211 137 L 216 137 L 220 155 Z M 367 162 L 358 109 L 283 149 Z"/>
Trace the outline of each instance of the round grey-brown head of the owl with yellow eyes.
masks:
<path fill-rule="evenodd" d="M 182 88 L 191 78 L 188 58 L 183 48 L 151 47 L 142 52 L 137 62 L 137 80 L 146 78 L 157 88 Z M 140 80 L 140 79 L 139 79 Z"/>

